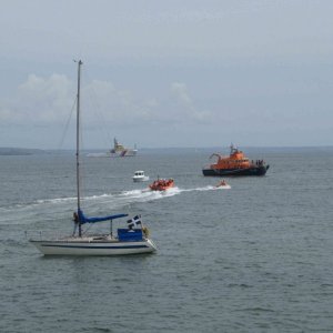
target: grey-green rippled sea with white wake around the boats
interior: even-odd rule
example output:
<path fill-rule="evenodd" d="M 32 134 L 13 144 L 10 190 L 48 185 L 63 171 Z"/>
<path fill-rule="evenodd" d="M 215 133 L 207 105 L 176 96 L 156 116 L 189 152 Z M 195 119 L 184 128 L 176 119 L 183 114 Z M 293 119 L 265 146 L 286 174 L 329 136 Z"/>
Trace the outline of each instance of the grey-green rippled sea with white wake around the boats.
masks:
<path fill-rule="evenodd" d="M 0 157 L 0 332 L 333 332 L 333 149 L 246 154 L 270 169 L 231 189 L 202 175 L 208 151 L 83 157 L 84 213 L 141 214 L 158 246 L 113 258 L 29 243 L 72 233 L 73 153 Z"/>

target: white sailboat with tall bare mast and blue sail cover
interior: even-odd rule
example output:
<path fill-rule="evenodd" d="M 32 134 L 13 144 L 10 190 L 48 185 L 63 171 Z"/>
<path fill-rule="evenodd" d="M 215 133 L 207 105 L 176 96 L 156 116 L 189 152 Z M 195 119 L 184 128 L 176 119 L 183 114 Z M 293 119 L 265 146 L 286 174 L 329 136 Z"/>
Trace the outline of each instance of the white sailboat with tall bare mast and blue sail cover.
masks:
<path fill-rule="evenodd" d="M 122 255 L 151 253 L 157 251 L 155 244 L 149 239 L 149 231 L 142 224 L 141 216 L 137 215 L 128 220 L 128 228 L 118 229 L 113 234 L 112 221 L 125 218 L 128 214 L 115 214 L 99 218 L 88 218 L 81 209 L 80 199 L 80 74 L 82 61 L 78 61 L 78 95 L 77 95 L 77 196 L 78 209 L 74 213 L 75 230 L 73 235 L 60 239 L 30 240 L 44 255 Z M 84 234 L 82 225 L 110 221 L 110 232 L 105 234 Z"/>

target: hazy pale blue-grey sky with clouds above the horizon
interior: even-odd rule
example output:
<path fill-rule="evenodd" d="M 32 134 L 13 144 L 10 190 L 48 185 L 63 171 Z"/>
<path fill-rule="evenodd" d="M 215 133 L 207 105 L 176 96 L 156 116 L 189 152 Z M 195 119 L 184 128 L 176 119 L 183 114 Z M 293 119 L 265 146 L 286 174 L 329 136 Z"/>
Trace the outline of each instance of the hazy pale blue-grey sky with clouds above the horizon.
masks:
<path fill-rule="evenodd" d="M 0 147 L 333 145 L 331 0 L 0 0 Z"/>

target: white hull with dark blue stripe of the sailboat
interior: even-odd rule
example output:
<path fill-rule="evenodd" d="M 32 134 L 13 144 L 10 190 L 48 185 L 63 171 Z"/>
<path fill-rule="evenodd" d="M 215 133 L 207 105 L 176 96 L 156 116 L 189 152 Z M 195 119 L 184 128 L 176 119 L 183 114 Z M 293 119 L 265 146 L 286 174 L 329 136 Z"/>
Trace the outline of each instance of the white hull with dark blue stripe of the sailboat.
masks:
<path fill-rule="evenodd" d="M 30 242 L 44 255 L 125 255 L 151 253 L 157 251 L 155 244 L 149 239 L 135 242 L 78 240 L 30 240 Z"/>

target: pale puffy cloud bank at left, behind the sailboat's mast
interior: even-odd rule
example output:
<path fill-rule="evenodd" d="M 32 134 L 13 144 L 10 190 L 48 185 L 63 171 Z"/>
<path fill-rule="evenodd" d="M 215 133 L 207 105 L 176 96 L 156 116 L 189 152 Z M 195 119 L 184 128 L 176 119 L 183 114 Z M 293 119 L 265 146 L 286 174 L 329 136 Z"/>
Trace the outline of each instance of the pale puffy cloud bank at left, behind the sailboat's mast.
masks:
<path fill-rule="evenodd" d="M 83 119 L 95 125 L 99 121 L 134 123 L 151 117 L 154 99 L 135 99 L 131 92 L 117 90 L 111 82 L 93 80 L 81 89 Z M 75 82 L 65 75 L 41 78 L 30 74 L 18 87 L 11 100 L 1 101 L 2 125 L 51 125 L 63 123 L 75 101 Z"/>

